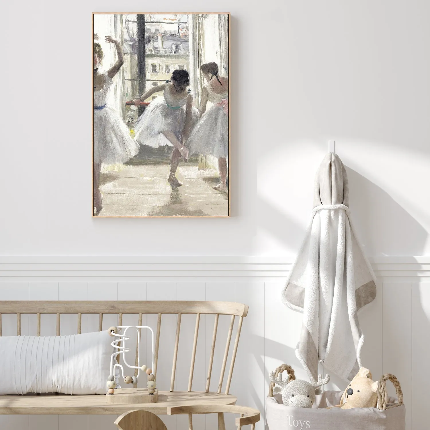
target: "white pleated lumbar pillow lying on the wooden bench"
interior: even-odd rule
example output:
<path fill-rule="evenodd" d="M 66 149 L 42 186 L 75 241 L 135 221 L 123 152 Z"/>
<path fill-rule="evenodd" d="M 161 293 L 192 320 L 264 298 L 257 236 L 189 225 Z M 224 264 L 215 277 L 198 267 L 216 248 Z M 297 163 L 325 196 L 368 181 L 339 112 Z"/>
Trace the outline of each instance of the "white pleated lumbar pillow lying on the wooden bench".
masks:
<path fill-rule="evenodd" d="M 0 394 L 106 394 L 114 347 L 107 331 L 0 336 Z"/>

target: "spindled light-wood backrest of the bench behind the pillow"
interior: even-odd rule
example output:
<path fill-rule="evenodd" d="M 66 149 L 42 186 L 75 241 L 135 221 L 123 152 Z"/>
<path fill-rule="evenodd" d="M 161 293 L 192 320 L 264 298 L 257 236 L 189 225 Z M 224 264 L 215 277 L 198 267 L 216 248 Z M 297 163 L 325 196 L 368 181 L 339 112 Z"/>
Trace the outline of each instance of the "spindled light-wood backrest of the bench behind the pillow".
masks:
<path fill-rule="evenodd" d="M 98 331 L 103 328 L 103 316 L 106 314 L 117 315 L 117 325 L 123 325 L 123 315 L 136 314 L 138 320 L 136 326 L 142 326 L 142 318 L 144 315 L 157 315 L 157 327 L 155 331 L 155 348 L 154 348 L 154 369 L 153 373 L 157 377 L 157 366 L 159 362 L 160 350 L 160 332 L 163 324 L 163 315 L 176 315 L 176 334 L 173 347 L 172 374 L 170 380 L 170 391 L 174 391 L 176 380 L 176 367 L 178 359 L 179 340 L 181 333 L 181 319 L 184 314 L 195 315 L 194 339 L 191 351 L 190 372 L 188 376 L 188 391 L 192 391 L 194 366 L 196 362 L 197 340 L 199 337 L 200 317 L 202 315 L 214 315 L 214 326 L 212 332 L 212 344 L 209 355 L 209 363 L 206 378 L 206 393 L 209 392 L 212 369 L 214 362 L 215 344 L 219 334 L 218 322 L 220 316 L 230 316 L 230 324 L 228 326 L 227 340 L 224 349 L 224 357 L 222 359 L 221 371 L 218 379 L 217 393 L 221 393 L 224 384 L 225 371 L 227 369 L 227 359 L 230 352 L 230 344 L 233 335 L 233 329 L 237 322 L 237 330 L 233 351 L 231 353 L 230 362 L 228 363 L 228 375 L 224 393 L 228 394 L 233 377 L 233 368 L 239 345 L 240 332 L 242 329 L 243 318 L 248 313 L 248 306 L 240 303 L 223 302 L 223 301 L 0 301 L 0 336 L 2 335 L 2 314 L 16 314 L 17 330 L 16 334 L 21 335 L 21 318 L 24 314 L 37 315 L 37 336 L 41 333 L 41 314 L 56 315 L 56 335 L 60 335 L 61 315 L 77 314 L 77 334 L 81 333 L 82 315 L 96 314 L 98 315 Z M 128 324 L 130 325 L 130 324 Z M 154 327 L 155 328 L 155 327 Z M 119 357 L 118 357 L 119 358 Z M 136 345 L 137 366 L 138 349 Z M 137 369 L 135 370 L 137 374 Z"/>

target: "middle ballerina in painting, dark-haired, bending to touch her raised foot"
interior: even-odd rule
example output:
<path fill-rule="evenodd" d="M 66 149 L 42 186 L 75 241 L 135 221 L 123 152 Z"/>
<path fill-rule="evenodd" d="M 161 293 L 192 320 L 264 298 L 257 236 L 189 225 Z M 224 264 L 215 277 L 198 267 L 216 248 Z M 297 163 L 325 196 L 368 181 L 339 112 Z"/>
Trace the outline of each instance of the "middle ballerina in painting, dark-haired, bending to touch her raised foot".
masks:
<path fill-rule="evenodd" d="M 163 91 L 145 109 L 135 125 L 135 141 L 153 148 L 174 146 L 170 161 L 169 184 L 180 187 L 182 182 L 176 176 L 181 157 L 188 161 L 188 149 L 183 142 L 187 139 L 199 112 L 193 107 L 193 96 L 187 91 L 190 79 L 186 70 L 175 70 L 172 82 L 153 86 L 140 98 L 133 100 L 138 105 L 156 92 Z"/>

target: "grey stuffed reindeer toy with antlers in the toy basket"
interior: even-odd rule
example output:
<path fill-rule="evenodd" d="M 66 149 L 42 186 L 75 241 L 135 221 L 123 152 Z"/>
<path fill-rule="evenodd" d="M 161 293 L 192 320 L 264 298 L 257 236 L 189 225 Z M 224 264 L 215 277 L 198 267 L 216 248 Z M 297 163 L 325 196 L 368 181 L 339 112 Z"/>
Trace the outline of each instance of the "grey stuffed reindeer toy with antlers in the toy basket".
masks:
<path fill-rule="evenodd" d="M 288 368 L 291 369 L 291 366 L 288 366 Z M 292 372 L 288 372 L 288 376 L 283 380 L 282 371 L 278 372 L 278 369 L 276 369 L 276 377 L 273 372 L 270 372 L 270 381 L 281 387 L 282 402 L 287 406 L 312 408 L 315 395 L 322 394 L 323 389 L 321 387 L 330 381 L 329 375 L 326 375 L 324 379 L 322 379 L 322 375 L 318 375 L 318 381 L 315 381 L 310 376 L 310 383 L 303 379 L 295 379 L 294 370 L 292 369 Z"/>

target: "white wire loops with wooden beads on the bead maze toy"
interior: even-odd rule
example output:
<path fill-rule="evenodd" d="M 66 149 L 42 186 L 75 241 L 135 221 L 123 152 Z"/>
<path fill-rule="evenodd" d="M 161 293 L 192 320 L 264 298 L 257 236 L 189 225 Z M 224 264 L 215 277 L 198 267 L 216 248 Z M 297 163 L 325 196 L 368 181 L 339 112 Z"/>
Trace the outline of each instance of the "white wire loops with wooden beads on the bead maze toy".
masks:
<path fill-rule="evenodd" d="M 128 329 L 135 329 L 137 332 L 137 366 L 131 365 L 126 360 L 126 352 L 129 352 L 130 349 L 126 346 L 126 341 L 129 341 L 130 338 L 127 336 Z M 148 368 L 147 365 L 141 365 L 140 362 L 140 337 L 141 337 L 141 329 L 147 329 L 151 332 L 152 336 L 152 368 Z M 114 394 L 115 388 L 117 387 L 117 383 L 115 382 L 115 369 L 119 368 L 121 376 L 126 384 L 133 383 L 137 384 L 138 378 L 141 372 L 145 372 L 147 374 L 147 388 L 149 394 L 155 393 L 155 388 L 157 384 L 155 382 L 155 376 L 152 374 L 152 369 L 154 368 L 154 330 L 149 326 L 118 326 L 118 327 L 109 327 L 107 330 L 109 336 L 115 337 L 114 341 L 111 345 L 116 349 L 115 352 L 111 355 L 111 366 L 110 372 L 111 374 L 107 378 L 106 386 L 108 388 L 107 394 Z M 121 342 L 121 345 L 119 344 Z M 124 365 L 126 365 L 129 369 L 137 369 L 137 375 L 126 376 L 124 373 L 124 366 L 117 362 L 117 356 L 123 356 Z M 115 363 L 115 364 L 114 364 Z"/>

